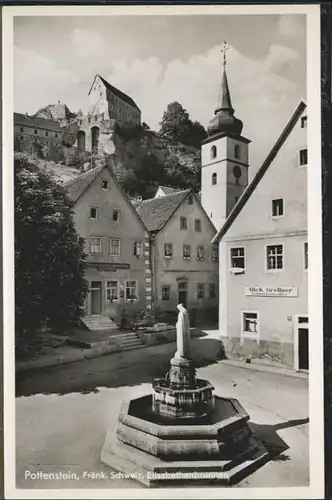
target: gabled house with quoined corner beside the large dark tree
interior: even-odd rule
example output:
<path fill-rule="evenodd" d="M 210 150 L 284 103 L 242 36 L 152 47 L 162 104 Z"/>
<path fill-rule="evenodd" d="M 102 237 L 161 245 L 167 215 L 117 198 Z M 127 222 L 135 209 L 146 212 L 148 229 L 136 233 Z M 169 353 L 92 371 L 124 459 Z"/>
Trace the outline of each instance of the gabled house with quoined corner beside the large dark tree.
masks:
<path fill-rule="evenodd" d="M 119 321 L 151 307 L 149 238 L 111 169 L 98 167 L 65 184 L 85 240 L 87 316 Z"/>

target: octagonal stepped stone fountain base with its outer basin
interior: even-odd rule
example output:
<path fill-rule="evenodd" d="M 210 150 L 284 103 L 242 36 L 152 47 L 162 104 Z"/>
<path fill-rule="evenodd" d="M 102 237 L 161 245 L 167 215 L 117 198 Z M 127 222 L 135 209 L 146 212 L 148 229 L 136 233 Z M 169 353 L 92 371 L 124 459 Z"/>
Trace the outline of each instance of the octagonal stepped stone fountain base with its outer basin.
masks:
<path fill-rule="evenodd" d="M 198 418 L 153 411 L 153 396 L 124 401 L 116 432 L 110 429 L 101 461 L 146 486 L 231 485 L 268 460 L 236 399 L 214 397 Z"/>

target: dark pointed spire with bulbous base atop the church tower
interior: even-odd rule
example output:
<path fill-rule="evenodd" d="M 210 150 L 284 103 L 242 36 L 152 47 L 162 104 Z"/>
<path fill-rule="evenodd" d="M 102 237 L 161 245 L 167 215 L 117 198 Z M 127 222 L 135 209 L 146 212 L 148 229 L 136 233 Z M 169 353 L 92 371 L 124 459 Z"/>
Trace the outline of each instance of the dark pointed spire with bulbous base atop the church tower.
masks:
<path fill-rule="evenodd" d="M 232 107 L 231 94 L 229 91 L 227 74 L 226 74 L 226 50 L 229 47 L 227 42 L 224 41 L 221 52 L 223 54 L 223 73 L 221 78 L 219 104 L 214 114 L 215 117 L 208 125 L 208 134 L 215 135 L 217 133 L 231 133 L 233 135 L 241 135 L 243 124 L 234 116 L 234 109 Z"/>

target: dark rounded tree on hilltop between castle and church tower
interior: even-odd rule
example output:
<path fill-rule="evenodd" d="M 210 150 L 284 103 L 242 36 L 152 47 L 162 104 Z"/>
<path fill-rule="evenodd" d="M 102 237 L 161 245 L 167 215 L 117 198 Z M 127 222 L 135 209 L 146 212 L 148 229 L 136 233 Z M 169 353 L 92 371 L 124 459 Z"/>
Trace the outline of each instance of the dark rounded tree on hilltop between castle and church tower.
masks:
<path fill-rule="evenodd" d="M 200 148 L 207 133 L 198 121 L 192 122 L 187 111 L 179 102 L 167 106 L 160 123 L 160 134 L 173 142 Z"/>

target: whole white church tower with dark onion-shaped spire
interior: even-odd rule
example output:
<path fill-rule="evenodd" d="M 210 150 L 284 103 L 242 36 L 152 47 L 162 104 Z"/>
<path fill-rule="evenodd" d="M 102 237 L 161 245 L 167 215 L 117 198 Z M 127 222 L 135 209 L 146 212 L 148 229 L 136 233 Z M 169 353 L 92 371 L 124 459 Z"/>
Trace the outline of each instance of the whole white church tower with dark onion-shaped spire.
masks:
<path fill-rule="evenodd" d="M 220 100 L 201 146 L 202 205 L 219 230 L 248 184 L 249 141 L 234 116 L 226 74 L 226 42 Z"/>

